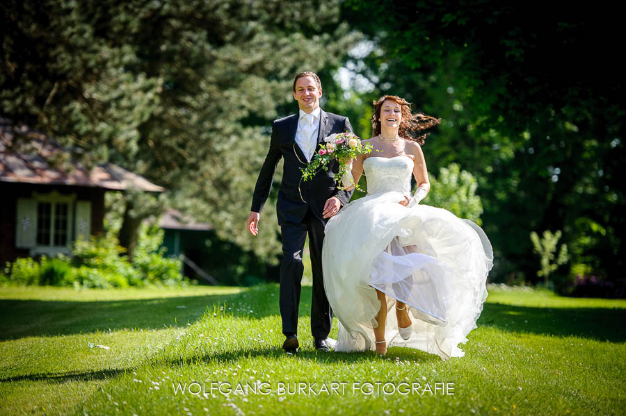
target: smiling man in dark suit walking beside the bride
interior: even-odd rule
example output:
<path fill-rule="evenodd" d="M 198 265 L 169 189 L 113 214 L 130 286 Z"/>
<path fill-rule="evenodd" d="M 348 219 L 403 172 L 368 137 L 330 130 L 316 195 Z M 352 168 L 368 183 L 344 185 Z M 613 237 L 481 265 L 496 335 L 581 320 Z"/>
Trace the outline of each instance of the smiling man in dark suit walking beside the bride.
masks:
<path fill-rule="evenodd" d="M 321 170 L 312 180 L 302 181 L 300 168 L 313 158 L 324 138 L 332 133 L 352 133 L 347 117 L 326 113 L 319 108 L 321 96 L 321 83 L 316 74 L 301 72 L 296 75 L 294 99 L 298 101 L 300 110 L 272 124 L 269 151 L 257 179 L 248 217 L 248 231 L 257 235 L 260 213 L 270 193 L 276 165 L 280 158 L 284 158 L 276 209 L 282 233 L 279 303 L 282 333 L 286 337 L 282 348 L 290 353 L 300 346 L 297 338 L 298 305 L 304 271 L 302 253 L 307 233 L 313 272 L 311 333 L 317 351 L 330 351 L 327 338 L 332 310 L 324 292 L 321 265 L 324 226 L 328 218 L 350 201 L 352 195 L 352 191 L 337 189 L 335 173 L 339 172 L 339 165 L 336 160 L 328 165 L 328 172 Z"/>

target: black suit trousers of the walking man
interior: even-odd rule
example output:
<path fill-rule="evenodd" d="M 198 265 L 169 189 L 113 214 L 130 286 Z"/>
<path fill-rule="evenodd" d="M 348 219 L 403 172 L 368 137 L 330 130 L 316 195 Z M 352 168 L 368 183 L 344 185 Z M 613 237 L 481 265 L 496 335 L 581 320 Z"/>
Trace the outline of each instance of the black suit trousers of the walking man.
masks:
<path fill-rule="evenodd" d="M 332 324 L 332 310 L 326 299 L 322 276 L 321 253 L 324 226 L 311 211 L 307 211 L 302 222 L 284 222 L 282 232 L 282 262 L 280 263 L 280 316 L 282 333 L 297 335 L 298 306 L 304 266 L 302 256 L 309 235 L 309 251 L 313 272 L 313 297 L 311 299 L 311 333 L 314 338 L 327 338 Z"/>

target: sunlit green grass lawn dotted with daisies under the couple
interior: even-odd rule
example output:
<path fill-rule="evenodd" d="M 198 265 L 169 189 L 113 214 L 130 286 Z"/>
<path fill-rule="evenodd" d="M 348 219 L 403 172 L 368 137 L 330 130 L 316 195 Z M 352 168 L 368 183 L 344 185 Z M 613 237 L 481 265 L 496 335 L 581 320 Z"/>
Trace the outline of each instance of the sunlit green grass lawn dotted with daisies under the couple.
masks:
<path fill-rule="evenodd" d="M 0 288 L 0 415 L 625 413 L 626 301 L 492 288 L 465 357 L 443 362 L 316 353 L 301 299 L 288 356 L 277 285 Z"/>

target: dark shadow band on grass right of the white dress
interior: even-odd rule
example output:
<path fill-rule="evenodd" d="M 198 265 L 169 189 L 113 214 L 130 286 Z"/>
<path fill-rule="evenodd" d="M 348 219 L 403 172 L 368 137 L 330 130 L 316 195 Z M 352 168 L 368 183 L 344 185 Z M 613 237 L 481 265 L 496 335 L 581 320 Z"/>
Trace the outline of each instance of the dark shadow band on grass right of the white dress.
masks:
<path fill-rule="evenodd" d="M 502 331 L 577 336 L 598 341 L 626 341 L 626 309 L 531 308 L 485 303 L 478 326 Z"/>

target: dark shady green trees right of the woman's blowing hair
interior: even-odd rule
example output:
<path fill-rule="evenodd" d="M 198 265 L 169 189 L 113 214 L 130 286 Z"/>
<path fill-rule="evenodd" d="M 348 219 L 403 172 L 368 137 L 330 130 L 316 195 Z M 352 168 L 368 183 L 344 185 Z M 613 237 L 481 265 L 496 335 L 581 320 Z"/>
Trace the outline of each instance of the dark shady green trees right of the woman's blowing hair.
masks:
<path fill-rule="evenodd" d="M 545 229 L 563 230 L 570 265 L 623 274 L 624 83 L 613 48 L 621 24 L 605 11 L 346 2 L 348 19 L 376 44 L 353 67 L 374 94 L 408 96 L 442 117 L 424 146 L 429 167 L 456 162 L 479 179 L 495 276 L 534 281 L 527 235 Z"/>

